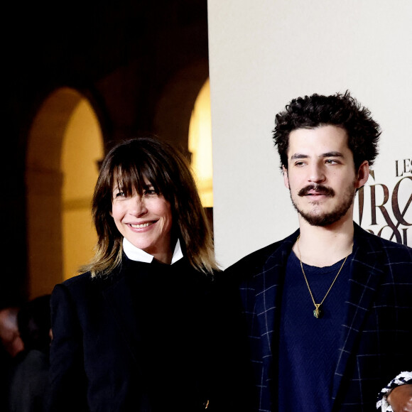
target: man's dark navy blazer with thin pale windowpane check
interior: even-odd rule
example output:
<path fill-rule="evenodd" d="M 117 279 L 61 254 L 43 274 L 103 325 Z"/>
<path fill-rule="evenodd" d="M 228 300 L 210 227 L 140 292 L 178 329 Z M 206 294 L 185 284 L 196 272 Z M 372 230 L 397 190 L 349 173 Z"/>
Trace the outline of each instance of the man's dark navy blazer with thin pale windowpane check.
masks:
<path fill-rule="evenodd" d="M 298 234 L 255 251 L 225 271 L 239 290 L 259 412 L 277 411 L 282 287 Z M 412 249 L 354 224 L 350 271 L 331 382 L 332 411 L 374 411 L 381 388 L 399 372 L 412 370 Z"/>

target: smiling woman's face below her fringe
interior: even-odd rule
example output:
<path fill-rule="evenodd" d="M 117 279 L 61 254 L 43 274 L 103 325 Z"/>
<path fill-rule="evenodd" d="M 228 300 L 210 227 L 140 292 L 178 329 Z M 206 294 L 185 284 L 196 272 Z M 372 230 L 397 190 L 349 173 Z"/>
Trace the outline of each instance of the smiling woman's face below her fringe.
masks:
<path fill-rule="evenodd" d="M 170 203 L 153 190 L 145 179 L 143 194 L 134 191 L 127 196 L 117 185 L 113 188 L 112 217 L 119 232 L 131 244 L 170 264 L 172 212 Z"/>

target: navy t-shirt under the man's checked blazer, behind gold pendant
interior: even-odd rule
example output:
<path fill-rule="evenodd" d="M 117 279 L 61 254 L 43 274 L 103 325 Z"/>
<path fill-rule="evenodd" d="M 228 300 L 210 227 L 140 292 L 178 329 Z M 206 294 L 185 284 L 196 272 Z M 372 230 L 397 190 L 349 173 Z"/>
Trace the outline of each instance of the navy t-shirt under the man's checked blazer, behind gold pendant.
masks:
<path fill-rule="evenodd" d="M 300 261 L 293 251 L 288 258 L 281 306 L 279 412 L 332 409 L 333 375 L 349 296 L 351 259 L 347 258 L 321 306 L 322 318 L 317 319 Z M 322 301 L 342 263 L 343 259 L 323 268 L 303 264 L 316 303 Z"/>

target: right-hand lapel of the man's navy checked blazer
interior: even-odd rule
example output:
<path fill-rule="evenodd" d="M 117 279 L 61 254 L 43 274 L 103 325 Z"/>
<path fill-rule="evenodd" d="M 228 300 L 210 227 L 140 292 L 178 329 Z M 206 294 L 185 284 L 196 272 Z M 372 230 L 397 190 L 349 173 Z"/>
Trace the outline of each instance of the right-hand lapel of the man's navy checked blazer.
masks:
<path fill-rule="evenodd" d="M 364 237 L 361 231 L 355 225 L 354 259 L 351 263 L 347 313 L 342 325 L 340 352 L 333 382 L 333 399 L 337 397 L 347 362 L 362 333 L 364 320 L 374 302 L 383 273 L 382 252 L 374 247 L 373 238 Z"/>

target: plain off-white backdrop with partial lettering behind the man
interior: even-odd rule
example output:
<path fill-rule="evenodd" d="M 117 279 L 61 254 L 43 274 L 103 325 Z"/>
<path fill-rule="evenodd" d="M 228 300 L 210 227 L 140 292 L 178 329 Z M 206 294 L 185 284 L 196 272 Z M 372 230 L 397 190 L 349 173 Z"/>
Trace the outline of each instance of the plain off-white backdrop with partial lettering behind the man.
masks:
<path fill-rule="evenodd" d="M 271 131 L 291 99 L 314 92 L 350 90 L 381 125 L 361 224 L 411 246 L 412 1 L 208 0 L 208 18 L 222 267 L 298 227 Z"/>

